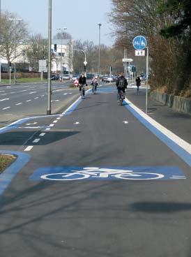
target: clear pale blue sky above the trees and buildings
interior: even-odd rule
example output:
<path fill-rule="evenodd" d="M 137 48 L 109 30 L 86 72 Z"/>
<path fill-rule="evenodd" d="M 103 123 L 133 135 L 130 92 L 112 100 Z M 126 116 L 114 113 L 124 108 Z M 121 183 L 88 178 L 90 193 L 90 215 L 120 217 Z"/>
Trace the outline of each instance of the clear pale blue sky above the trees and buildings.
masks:
<path fill-rule="evenodd" d="M 47 37 L 48 0 L 1 0 L 1 10 L 8 10 L 22 17 L 29 24 L 31 34 Z M 98 23 L 101 27 L 101 43 L 111 46 L 112 24 L 107 13 L 111 0 L 52 0 L 52 36 L 57 27 L 67 27 L 75 40 L 82 39 L 98 44 Z"/>

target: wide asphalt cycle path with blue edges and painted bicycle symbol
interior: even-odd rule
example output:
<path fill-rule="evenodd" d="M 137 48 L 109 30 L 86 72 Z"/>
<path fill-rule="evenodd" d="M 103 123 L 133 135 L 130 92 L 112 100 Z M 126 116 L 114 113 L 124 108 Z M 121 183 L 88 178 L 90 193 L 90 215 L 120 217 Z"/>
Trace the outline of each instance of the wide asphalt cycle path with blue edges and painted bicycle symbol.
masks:
<path fill-rule="evenodd" d="M 138 112 L 102 87 L 1 131 L 19 156 L 0 177 L 1 257 L 191 256 L 190 145 Z"/>

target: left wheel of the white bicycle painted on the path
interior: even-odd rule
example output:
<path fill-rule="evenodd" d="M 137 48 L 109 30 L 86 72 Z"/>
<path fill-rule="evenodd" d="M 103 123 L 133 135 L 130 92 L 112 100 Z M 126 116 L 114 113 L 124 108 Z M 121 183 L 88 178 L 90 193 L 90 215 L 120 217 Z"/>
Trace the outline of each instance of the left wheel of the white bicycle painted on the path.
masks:
<path fill-rule="evenodd" d="M 89 177 L 88 174 L 82 174 L 78 172 L 74 173 L 52 173 L 43 175 L 40 178 L 46 180 L 54 180 L 54 181 L 66 181 L 66 180 L 79 180 L 79 179 L 87 179 Z"/>

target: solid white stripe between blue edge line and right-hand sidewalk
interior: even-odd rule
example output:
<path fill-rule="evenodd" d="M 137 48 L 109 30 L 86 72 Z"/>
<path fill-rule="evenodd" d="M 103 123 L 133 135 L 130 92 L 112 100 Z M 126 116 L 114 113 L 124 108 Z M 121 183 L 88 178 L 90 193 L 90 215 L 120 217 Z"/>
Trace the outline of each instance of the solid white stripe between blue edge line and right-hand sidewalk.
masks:
<path fill-rule="evenodd" d="M 158 129 L 159 131 L 161 131 L 164 135 L 167 136 L 167 138 L 169 138 L 170 140 L 176 142 L 177 145 L 179 145 L 180 147 L 182 147 L 186 152 L 188 152 L 189 154 L 191 154 L 191 145 L 186 142 L 185 140 L 183 140 L 182 138 L 179 138 L 178 135 L 175 135 L 174 133 L 172 133 L 171 131 L 169 131 L 168 129 L 165 128 L 165 126 L 162 126 L 161 124 L 159 124 L 158 122 L 156 122 L 154 119 L 152 119 L 151 117 L 149 117 L 148 115 L 146 115 L 146 113 L 142 112 L 142 110 L 140 110 L 139 108 L 137 108 L 137 106 L 135 106 L 133 103 L 131 103 L 127 98 L 125 99 L 125 102 L 128 103 L 128 105 L 130 105 L 130 107 L 132 109 L 134 109 L 136 112 L 139 113 L 139 115 L 141 115 L 142 117 L 144 117 L 144 119 L 146 119 L 147 122 L 149 122 L 150 124 L 152 124 L 153 126 L 155 126 L 156 129 Z"/>

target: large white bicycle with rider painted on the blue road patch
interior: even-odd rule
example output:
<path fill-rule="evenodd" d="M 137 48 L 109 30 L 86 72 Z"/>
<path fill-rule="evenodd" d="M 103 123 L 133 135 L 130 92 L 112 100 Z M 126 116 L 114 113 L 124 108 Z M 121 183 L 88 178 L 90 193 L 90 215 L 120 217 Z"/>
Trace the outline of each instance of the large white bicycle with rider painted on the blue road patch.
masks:
<path fill-rule="evenodd" d="M 70 172 L 59 172 L 42 175 L 47 180 L 79 180 L 79 179 L 131 179 L 151 180 L 162 179 L 165 175 L 153 172 L 137 172 L 134 170 L 119 170 L 112 168 L 87 167 L 83 170 L 70 170 Z"/>

